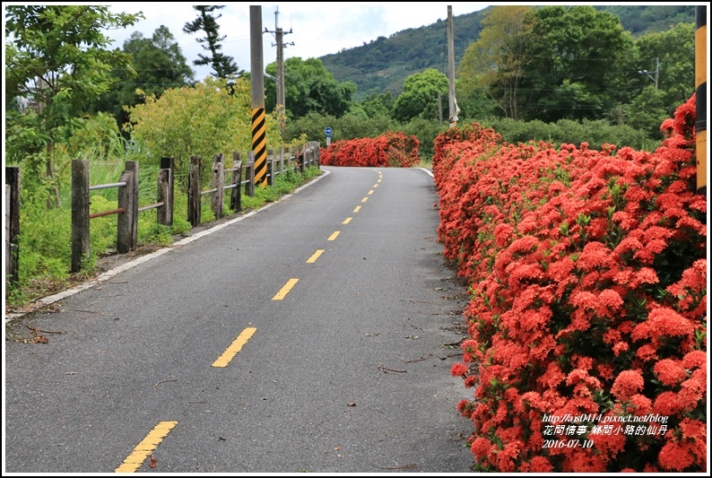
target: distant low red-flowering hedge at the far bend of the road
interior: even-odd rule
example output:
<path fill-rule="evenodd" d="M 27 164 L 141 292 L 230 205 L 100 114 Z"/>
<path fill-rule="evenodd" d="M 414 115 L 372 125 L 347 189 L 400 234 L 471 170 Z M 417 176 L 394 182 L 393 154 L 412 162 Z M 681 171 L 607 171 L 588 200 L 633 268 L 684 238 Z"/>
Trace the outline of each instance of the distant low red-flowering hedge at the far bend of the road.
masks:
<path fill-rule="evenodd" d="M 387 132 L 376 138 L 357 138 L 331 143 L 322 148 L 319 162 L 332 166 L 377 166 L 410 168 L 419 164 L 415 136 Z"/>

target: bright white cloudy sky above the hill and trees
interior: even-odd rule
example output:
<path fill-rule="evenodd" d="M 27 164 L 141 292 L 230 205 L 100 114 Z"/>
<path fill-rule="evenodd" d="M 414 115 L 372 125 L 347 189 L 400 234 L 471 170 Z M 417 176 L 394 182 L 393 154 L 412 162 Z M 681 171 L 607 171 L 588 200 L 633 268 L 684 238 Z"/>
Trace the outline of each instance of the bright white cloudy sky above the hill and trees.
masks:
<path fill-rule="evenodd" d="M 201 4 L 201 3 L 195 3 Z M 232 56 L 240 70 L 250 70 L 250 30 L 249 6 L 251 3 L 231 3 L 218 11 L 219 33 L 226 38 L 221 41 L 222 53 Z M 420 28 L 440 20 L 447 20 L 447 5 L 452 5 L 453 16 L 473 13 L 488 6 L 482 3 L 465 2 L 292 2 L 262 5 L 262 30 L 274 31 L 281 28 L 285 34 L 284 59 L 300 56 L 302 59 L 318 58 L 338 53 L 347 48 L 360 47 L 378 37 L 390 37 L 398 31 Z M 111 4 L 112 11 L 120 13 L 143 12 L 145 20 L 137 22 L 125 30 L 109 31 L 115 39 L 114 48 L 123 48 L 124 41 L 134 31 L 141 31 L 150 38 L 153 31 L 165 25 L 176 38 L 178 46 L 186 56 L 187 64 L 195 71 L 195 80 L 203 80 L 211 74 L 209 66 L 197 67 L 193 60 L 199 53 L 207 53 L 196 39 L 204 37 L 203 32 L 188 35 L 183 32 L 186 22 L 197 18 L 193 4 L 158 2 L 121 2 Z M 275 14 L 275 12 L 279 12 Z M 457 28 L 455 23 L 454 29 Z M 291 31 L 291 33 L 288 33 Z M 291 43 L 294 45 L 291 45 Z M 262 34 L 263 64 L 269 65 L 277 59 L 273 33 Z"/>

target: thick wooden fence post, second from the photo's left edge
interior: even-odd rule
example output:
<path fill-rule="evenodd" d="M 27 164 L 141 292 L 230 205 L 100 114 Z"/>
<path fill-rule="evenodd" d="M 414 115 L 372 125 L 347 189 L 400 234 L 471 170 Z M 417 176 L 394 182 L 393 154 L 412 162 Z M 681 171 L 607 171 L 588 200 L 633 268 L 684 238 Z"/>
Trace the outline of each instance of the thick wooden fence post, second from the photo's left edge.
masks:
<path fill-rule="evenodd" d="M 72 160 L 72 272 L 89 258 L 89 161 Z"/>

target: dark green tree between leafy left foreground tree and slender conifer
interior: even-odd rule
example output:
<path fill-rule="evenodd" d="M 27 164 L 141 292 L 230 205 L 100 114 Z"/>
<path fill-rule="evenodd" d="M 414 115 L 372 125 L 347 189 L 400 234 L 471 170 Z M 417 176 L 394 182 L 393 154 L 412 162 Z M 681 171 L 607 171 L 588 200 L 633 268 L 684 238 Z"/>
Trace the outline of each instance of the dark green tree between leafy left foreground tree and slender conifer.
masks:
<path fill-rule="evenodd" d="M 131 54 L 135 74 L 117 71 L 121 79 L 117 88 L 101 95 L 94 105 L 96 111 L 109 111 L 117 118 L 118 126 L 128 120 L 125 107 L 133 107 L 144 96 L 161 97 L 168 88 L 178 88 L 193 82 L 194 72 L 178 43 L 164 25 L 157 28 L 150 39 L 135 31 L 124 42 L 124 52 Z"/>

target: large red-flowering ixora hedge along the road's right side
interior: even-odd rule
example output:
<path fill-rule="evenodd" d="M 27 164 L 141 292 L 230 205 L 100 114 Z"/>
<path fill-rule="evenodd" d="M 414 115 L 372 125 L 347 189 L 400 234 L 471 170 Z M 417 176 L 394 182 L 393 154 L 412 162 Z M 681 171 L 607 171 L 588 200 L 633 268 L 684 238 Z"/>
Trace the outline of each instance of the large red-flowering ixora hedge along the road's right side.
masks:
<path fill-rule="evenodd" d="M 451 373 L 482 471 L 707 471 L 707 202 L 695 100 L 656 152 L 436 139 L 438 238 L 468 279 Z"/>

